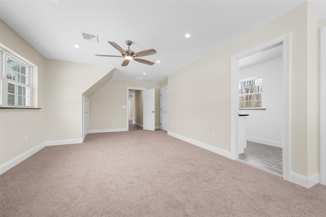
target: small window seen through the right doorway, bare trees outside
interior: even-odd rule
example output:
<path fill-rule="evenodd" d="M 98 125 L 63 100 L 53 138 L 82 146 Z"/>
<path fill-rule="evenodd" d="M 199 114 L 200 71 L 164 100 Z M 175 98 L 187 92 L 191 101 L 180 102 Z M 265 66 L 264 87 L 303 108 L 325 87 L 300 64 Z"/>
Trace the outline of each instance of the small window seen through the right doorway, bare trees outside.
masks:
<path fill-rule="evenodd" d="M 239 108 L 261 108 L 263 79 L 251 78 L 239 81 Z"/>

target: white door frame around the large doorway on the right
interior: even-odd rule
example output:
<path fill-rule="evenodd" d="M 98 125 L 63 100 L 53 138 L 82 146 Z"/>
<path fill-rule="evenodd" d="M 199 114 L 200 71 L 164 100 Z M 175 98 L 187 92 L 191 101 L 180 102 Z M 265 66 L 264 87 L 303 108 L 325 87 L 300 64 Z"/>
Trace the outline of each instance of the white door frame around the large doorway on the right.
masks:
<path fill-rule="evenodd" d="M 257 45 L 251 49 L 231 56 L 231 159 L 236 160 L 239 158 L 238 150 L 238 82 L 239 82 L 239 59 L 254 53 L 263 51 L 264 49 L 273 45 L 283 43 L 283 120 L 282 120 L 282 143 L 283 143 L 283 179 L 290 180 L 290 47 L 291 34 L 287 33 L 275 39 L 269 40 L 265 43 Z"/>

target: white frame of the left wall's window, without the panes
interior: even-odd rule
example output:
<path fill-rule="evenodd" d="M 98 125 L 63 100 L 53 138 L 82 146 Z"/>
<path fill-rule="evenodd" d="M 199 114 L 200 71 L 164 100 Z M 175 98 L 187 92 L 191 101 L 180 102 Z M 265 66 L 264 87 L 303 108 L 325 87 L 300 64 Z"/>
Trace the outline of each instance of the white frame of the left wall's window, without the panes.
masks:
<path fill-rule="evenodd" d="M 30 108 L 32 107 L 32 66 L 26 63 L 21 58 L 17 57 L 16 55 L 10 53 L 9 51 L 0 48 L 0 67 L 1 67 L 1 74 L 0 74 L 0 107 L 9 107 L 9 108 Z M 14 81 L 12 79 L 7 78 L 7 57 L 17 61 L 21 65 L 26 67 L 26 84 L 23 84 L 18 81 Z M 23 105 L 8 105 L 8 83 L 14 83 L 16 85 L 20 85 L 26 87 L 26 96 L 28 96 L 28 100 L 25 102 L 25 106 Z"/>

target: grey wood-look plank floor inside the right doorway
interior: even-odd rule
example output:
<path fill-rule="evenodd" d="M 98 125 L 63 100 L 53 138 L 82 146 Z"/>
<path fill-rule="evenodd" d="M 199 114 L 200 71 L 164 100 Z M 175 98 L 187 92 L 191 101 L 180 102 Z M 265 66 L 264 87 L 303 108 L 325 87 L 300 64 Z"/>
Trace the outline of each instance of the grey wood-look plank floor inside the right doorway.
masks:
<path fill-rule="evenodd" d="M 282 148 L 247 141 L 239 161 L 283 177 Z"/>

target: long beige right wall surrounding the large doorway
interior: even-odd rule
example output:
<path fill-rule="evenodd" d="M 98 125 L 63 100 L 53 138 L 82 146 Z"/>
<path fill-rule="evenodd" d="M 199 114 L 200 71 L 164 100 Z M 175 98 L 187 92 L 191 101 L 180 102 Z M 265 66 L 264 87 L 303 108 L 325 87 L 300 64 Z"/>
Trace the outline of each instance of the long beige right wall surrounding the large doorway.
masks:
<path fill-rule="evenodd" d="M 319 121 L 315 108 L 319 104 L 312 97 L 318 95 L 319 88 L 313 60 L 317 29 L 309 4 L 298 6 L 169 75 L 168 130 L 230 151 L 230 57 L 290 32 L 291 171 L 304 176 L 318 172 L 315 159 L 319 159 L 319 138 L 315 132 L 319 132 Z M 308 34 L 309 30 L 313 33 Z"/>

